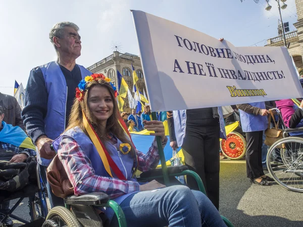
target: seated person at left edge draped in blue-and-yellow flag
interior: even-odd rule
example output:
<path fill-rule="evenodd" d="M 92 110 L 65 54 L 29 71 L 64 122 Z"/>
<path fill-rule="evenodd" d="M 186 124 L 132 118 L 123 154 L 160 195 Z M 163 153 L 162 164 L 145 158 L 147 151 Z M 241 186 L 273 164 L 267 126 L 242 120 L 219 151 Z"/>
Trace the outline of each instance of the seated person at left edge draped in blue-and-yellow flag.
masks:
<path fill-rule="evenodd" d="M 27 137 L 25 132 L 18 126 L 7 124 L 5 119 L 4 108 L 0 105 L 0 160 L 10 162 L 24 162 L 30 155 L 35 156 L 34 145 Z M 13 221 L 5 217 L 2 212 L 7 213 L 10 210 L 10 201 L 5 201 L 0 204 L 0 222 L 6 226 L 12 226 Z"/>

